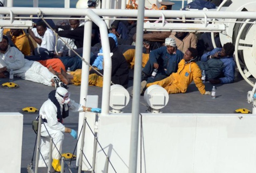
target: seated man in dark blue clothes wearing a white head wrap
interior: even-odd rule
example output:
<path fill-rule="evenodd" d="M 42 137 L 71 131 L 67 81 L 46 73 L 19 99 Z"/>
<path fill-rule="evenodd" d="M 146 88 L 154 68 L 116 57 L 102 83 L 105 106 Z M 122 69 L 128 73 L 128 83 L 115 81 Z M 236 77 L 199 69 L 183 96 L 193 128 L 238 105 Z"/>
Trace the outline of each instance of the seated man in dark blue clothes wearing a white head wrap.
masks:
<path fill-rule="evenodd" d="M 142 81 L 147 81 L 147 83 L 160 81 L 177 72 L 178 63 L 182 60 L 183 55 L 177 49 L 175 40 L 166 38 L 165 46 L 150 52 L 149 61 L 142 70 Z M 154 69 L 157 69 L 156 76 L 151 77 Z"/>

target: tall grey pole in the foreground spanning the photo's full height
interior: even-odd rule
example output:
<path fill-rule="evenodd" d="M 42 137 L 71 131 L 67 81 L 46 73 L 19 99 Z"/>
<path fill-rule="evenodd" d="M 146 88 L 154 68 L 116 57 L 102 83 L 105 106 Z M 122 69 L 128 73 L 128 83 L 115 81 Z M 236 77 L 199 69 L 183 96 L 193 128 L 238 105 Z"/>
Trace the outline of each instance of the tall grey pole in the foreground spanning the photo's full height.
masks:
<path fill-rule="evenodd" d="M 130 141 L 129 173 L 137 172 L 138 157 L 138 134 L 139 134 L 139 100 L 140 82 L 142 77 L 142 48 L 143 48 L 143 25 L 144 25 L 144 6 L 145 0 L 139 1 L 137 28 L 136 28 L 136 52 L 133 80 L 133 99 L 132 99 L 132 124 Z M 140 58 L 139 58 L 140 57 Z"/>

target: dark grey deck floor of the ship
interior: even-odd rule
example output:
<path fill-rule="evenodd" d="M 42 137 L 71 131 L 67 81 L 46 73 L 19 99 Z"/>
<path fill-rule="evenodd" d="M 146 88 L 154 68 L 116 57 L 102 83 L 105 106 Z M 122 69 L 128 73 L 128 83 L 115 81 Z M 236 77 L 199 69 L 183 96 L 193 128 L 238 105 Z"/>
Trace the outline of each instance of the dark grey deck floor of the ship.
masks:
<path fill-rule="evenodd" d="M 254 78 L 252 79 L 254 80 Z M 8 82 L 8 79 L 0 79 L 0 84 Z M 17 89 L 0 88 L 1 92 L 1 112 L 21 112 L 24 107 L 32 106 L 40 109 L 41 105 L 48 99 L 48 93 L 54 88 L 43 84 L 33 83 L 30 81 L 15 78 L 15 83 L 19 85 Z M 130 80 L 130 93 L 132 90 L 133 81 Z M 205 83 L 206 90 L 212 89 L 212 84 Z M 193 83 L 188 87 L 187 93 L 179 93 L 169 95 L 169 103 L 163 113 L 234 113 L 234 110 L 246 108 L 252 111 L 252 104 L 248 104 L 246 97 L 247 92 L 252 90 L 249 85 L 240 75 L 232 84 L 218 84 L 217 97 L 212 99 L 211 96 L 201 95 L 196 85 Z M 80 86 L 69 85 L 71 99 L 79 102 Z M 102 88 L 97 86 L 89 86 L 89 95 L 99 96 L 99 107 L 102 103 Z M 143 96 L 140 96 L 140 102 L 146 103 Z M 147 107 L 140 104 L 140 112 L 145 113 Z M 132 110 L 132 99 L 123 111 L 130 113 Z M 33 147 L 35 144 L 36 134 L 32 131 L 31 122 L 36 118 L 37 114 L 24 114 L 23 118 L 23 144 L 22 144 L 22 164 L 21 172 L 27 172 L 26 167 L 31 163 Z M 70 117 L 64 120 L 64 125 L 73 129 L 78 129 L 78 113 L 70 112 Z M 76 140 L 73 140 L 71 135 L 65 134 L 62 153 L 72 153 L 76 145 Z M 75 153 L 76 154 L 76 153 Z M 69 163 L 67 161 L 66 163 Z M 35 157 L 33 164 L 35 166 Z M 75 161 L 71 163 L 72 172 L 77 172 Z M 46 172 L 46 168 L 39 169 L 39 172 Z M 66 170 L 65 172 L 69 172 Z"/>

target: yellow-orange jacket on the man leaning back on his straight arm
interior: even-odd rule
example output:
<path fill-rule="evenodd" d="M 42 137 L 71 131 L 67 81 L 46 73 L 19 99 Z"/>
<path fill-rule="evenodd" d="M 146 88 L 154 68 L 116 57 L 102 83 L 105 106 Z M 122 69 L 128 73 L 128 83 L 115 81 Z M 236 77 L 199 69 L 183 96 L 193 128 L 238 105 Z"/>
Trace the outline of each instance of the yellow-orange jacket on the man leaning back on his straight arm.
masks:
<path fill-rule="evenodd" d="M 193 80 L 200 93 L 205 93 L 205 85 L 201 80 L 201 70 L 196 62 L 185 63 L 185 60 L 181 60 L 178 64 L 177 73 L 173 73 L 171 75 L 175 79 L 173 81 L 173 84 L 176 85 L 182 93 L 185 93 L 187 91 L 188 85 Z"/>

